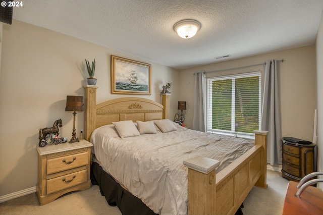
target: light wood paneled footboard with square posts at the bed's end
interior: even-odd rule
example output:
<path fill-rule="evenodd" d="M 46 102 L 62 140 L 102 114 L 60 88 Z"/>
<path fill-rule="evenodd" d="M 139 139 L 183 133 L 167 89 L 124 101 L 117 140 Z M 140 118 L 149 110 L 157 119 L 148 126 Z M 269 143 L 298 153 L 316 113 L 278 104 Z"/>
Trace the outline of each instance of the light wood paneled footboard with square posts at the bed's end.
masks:
<path fill-rule="evenodd" d="M 216 174 L 218 160 L 185 161 L 188 214 L 234 214 L 252 187 L 266 188 L 266 135 L 254 131 L 255 146 Z M 205 171 L 206 170 L 206 171 Z"/>

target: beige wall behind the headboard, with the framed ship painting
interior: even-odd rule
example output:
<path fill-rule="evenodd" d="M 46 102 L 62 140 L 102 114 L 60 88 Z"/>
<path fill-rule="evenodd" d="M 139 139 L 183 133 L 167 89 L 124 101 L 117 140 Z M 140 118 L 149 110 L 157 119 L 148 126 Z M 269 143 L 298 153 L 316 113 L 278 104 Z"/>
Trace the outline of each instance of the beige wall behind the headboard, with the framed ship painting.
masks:
<path fill-rule="evenodd" d="M 36 186 L 35 147 L 40 128 L 51 127 L 55 120 L 62 118 L 60 136 L 71 138 L 73 115 L 65 112 L 66 96 L 84 95 L 85 58 L 96 60 L 98 102 L 129 96 L 111 94 L 111 55 L 152 65 L 151 95 L 140 97 L 161 102 L 159 93 L 163 84 L 173 83 L 170 115 L 175 115 L 180 89 L 177 70 L 23 22 L 14 20 L 12 25 L 3 25 L 0 197 Z M 83 130 L 84 113 L 76 117 L 79 134 Z"/>

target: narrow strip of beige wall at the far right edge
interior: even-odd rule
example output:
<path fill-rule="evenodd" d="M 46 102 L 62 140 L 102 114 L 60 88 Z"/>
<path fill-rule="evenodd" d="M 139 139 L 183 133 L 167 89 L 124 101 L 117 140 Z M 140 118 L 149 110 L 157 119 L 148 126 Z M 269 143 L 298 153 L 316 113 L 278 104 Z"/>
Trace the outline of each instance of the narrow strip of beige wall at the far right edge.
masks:
<path fill-rule="evenodd" d="M 318 148 L 318 168 L 323 172 L 323 13 L 316 37 L 316 67 L 317 67 L 317 148 Z M 320 176 L 320 178 L 323 178 Z M 323 184 L 318 186 L 323 189 Z"/>

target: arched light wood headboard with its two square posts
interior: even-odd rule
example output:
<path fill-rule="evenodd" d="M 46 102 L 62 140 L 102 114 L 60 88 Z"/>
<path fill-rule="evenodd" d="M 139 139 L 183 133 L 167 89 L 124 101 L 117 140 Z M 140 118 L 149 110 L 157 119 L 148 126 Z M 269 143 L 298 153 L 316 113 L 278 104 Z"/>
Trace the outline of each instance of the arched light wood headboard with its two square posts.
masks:
<path fill-rule="evenodd" d="M 96 104 L 97 86 L 84 86 L 84 138 L 90 141 L 94 129 L 123 120 L 136 122 L 169 118 L 170 94 L 161 94 L 162 104 L 139 97 L 122 97 Z"/>

